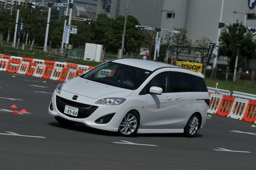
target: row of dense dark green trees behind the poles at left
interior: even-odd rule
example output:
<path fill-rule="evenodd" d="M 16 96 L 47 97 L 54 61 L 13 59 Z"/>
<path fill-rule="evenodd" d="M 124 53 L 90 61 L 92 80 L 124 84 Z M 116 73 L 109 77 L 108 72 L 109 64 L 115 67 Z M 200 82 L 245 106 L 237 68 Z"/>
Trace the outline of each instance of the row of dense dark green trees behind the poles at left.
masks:
<path fill-rule="evenodd" d="M 14 35 L 15 20 L 17 10 L 13 9 L 13 15 L 10 11 L 0 11 L 0 33 L 7 38 L 8 29 L 10 29 L 11 38 Z M 46 26 L 47 26 L 48 10 L 37 6 L 35 9 L 25 8 L 21 6 L 19 19 L 22 19 L 24 30 L 21 35 L 28 33 L 28 40 L 35 40 L 36 46 L 44 46 Z M 13 18 L 10 20 L 10 18 Z M 87 18 L 79 16 L 79 18 Z M 84 46 L 86 42 L 102 44 L 107 51 L 116 52 L 121 48 L 124 16 L 118 16 L 116 19 L 108 18 L 105 14 L 99 14 L 97 20 L 93 21 L 92 25 L 83 21 L 72 20 L 71 25 L 78 29 L 77 35 L 70 34 L 70 44 L 74 47 Z M 9 24 L 10 23 L 10 24 Z M 135 28 L 139 25 L 138 20 L 133 16 L 127 16 L 125 50 L 126 52 L 137 52 L 140 50 L 140 44 L 144 41 L 144 34 L 140 29 Z M 52 48 L 60 48 L 63 35 L 64 17 L 58 18 L 58 13 L 55 9 L 51 10 L 51 21 L 49 25 L 49 34 L 47 46 L 51 41 Z M 23 42 L 21 38 L 21 43 Z M 24 42 L 23 42 L 24 43 Z"/>

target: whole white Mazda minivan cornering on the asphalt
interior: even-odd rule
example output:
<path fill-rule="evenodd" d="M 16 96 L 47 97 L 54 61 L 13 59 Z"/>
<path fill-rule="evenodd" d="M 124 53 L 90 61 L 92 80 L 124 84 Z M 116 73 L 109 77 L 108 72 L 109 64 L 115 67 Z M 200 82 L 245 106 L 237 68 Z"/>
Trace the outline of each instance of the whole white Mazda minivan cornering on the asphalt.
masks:
<path fill-rule="evenodd" d="M 149 60 L 111 60 L 57 85 L 49 114 L 65 125 L 119 132 L 184 133 L 205 126 L 209 93 L 204 76 Z"/>

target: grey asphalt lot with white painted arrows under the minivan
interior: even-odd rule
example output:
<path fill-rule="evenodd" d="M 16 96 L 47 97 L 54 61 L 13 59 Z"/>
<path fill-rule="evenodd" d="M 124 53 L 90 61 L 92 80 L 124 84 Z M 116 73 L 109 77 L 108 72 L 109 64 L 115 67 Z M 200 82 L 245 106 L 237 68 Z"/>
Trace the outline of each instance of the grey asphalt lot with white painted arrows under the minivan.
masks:
<path fill-rule="evenodd" d="M 252 123 L 211 115 L 195 138 L 65 127 L 47 112 L 57 83 L 0 72 L 0 170 L 256 170 Z"/>

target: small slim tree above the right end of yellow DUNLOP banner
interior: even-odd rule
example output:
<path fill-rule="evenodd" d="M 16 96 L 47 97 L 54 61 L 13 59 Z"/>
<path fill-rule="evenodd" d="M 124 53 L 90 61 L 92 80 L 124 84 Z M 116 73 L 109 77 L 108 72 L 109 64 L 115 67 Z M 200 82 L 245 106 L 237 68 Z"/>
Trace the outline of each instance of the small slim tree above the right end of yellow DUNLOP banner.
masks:
<path fill-rule="evenodd" d="M 203 36 L 200 37 L 199 40 L 195 41 L 195 46 L 200 49 L 201 63 L 205 60 L 205 56 L 207 55 L 207 51 L 209 48 L 209 38 Z"/>

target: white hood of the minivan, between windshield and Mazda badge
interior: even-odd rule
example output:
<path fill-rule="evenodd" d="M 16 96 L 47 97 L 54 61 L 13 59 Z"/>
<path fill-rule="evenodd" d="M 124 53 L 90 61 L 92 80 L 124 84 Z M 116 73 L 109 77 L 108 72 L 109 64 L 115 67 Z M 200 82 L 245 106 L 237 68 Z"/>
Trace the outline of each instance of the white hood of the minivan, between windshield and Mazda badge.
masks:
<path fill-rule="evenodd" d="M 129 89 L 93 82 L 80 77 L 73 78 L 64 83 L 61 90 L 94 99 L 109 97 L 125 98 L 133 92 Z"/>

